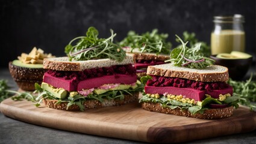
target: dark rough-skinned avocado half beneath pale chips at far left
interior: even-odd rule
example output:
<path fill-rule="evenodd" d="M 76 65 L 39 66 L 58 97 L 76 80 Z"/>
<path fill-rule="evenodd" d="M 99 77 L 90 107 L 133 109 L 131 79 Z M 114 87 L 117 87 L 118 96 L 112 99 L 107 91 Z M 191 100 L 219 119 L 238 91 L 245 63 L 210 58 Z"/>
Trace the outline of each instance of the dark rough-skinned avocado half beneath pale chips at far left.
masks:
<path fill-rule="evenodd" d="M 34 91 L 34 83 L 42 83 L 46 72 L 42 64 L 23 64 L 19 60 L 9 62 L 11 77 L 23 91 Z"/>

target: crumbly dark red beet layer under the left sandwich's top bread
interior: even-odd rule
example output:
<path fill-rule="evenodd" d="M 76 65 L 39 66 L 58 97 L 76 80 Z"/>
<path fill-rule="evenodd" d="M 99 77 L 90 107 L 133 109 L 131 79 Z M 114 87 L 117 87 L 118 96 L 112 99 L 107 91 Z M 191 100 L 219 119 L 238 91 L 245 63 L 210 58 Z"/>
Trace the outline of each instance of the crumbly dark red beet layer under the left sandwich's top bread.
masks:
<path fill-rule="evenodd" d="M 93 77 L 111 76 L 115 74 L 126 74 L 133 76 L 136 69 L 133 65 L 113 65 L 112 67 L 92 68 L 84 71 L 56 71 L 48 70 L 46 73 L 54 77 L 63 77 L 66 80 L 79 82 Z"/>

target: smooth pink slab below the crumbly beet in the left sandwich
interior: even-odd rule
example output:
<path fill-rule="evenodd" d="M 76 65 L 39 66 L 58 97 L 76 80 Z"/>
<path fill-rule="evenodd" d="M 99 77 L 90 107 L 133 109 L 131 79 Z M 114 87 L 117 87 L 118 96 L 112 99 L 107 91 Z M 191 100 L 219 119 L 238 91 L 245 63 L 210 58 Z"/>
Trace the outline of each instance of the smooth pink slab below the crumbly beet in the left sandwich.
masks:
<path fill-rule="evenodd" d="M 92 79 L 74 82 L 72 80 L 65 80 L 63 77 L 54 77 L 48 73 L 43 76 L 43 82 L 48 83 L 56 88 L 63 88 L 67 91 L 81 91 L 82 89 L 98 88 L 101 85 L 109 83 L 124 83 L 131 84 L 137 81 L 136 75 L 116 74 L 112 76 L 102 76 Z"/>

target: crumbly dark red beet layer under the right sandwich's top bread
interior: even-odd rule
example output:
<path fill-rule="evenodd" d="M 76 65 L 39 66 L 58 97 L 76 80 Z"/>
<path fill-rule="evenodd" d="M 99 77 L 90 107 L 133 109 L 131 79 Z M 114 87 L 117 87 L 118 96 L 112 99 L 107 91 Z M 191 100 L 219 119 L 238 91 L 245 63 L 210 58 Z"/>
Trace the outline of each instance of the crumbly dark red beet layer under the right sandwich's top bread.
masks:
<path fill-rule="evenodd" d="M 200 91 L 211 91 L 216 89 L 228 88 L 225 82 L 199 82 L 189 79 L 181 79 L 176 77 L 152 76 L 151 80 L 146 82 L 147 86 L 173 86 L 177 88 L 193 88 Z"/>

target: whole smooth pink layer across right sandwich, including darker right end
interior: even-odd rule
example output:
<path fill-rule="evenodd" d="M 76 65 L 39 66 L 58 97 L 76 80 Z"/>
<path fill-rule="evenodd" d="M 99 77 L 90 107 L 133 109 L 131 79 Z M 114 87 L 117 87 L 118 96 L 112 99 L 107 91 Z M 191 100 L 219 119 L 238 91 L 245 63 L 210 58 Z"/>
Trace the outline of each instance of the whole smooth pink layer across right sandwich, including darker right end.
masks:
<path fill-rule="evenodd" d="M 219 98 L 220 94 L 233 94 L 233 88 L 228 86 L 228 88 L 221 90 L 211 90 L 211 91 L 200 91 L 193 88 L 176 88 L 173 86 L 155 87 L 155 86 L 145 86 L 146 94 L 173 94 L 173 95 L 183 95 L 186 98 L 192 98 L 194 100 L 202 101 L 205 99 L 205 94 L 211 95 L 213 98 Z"/>

